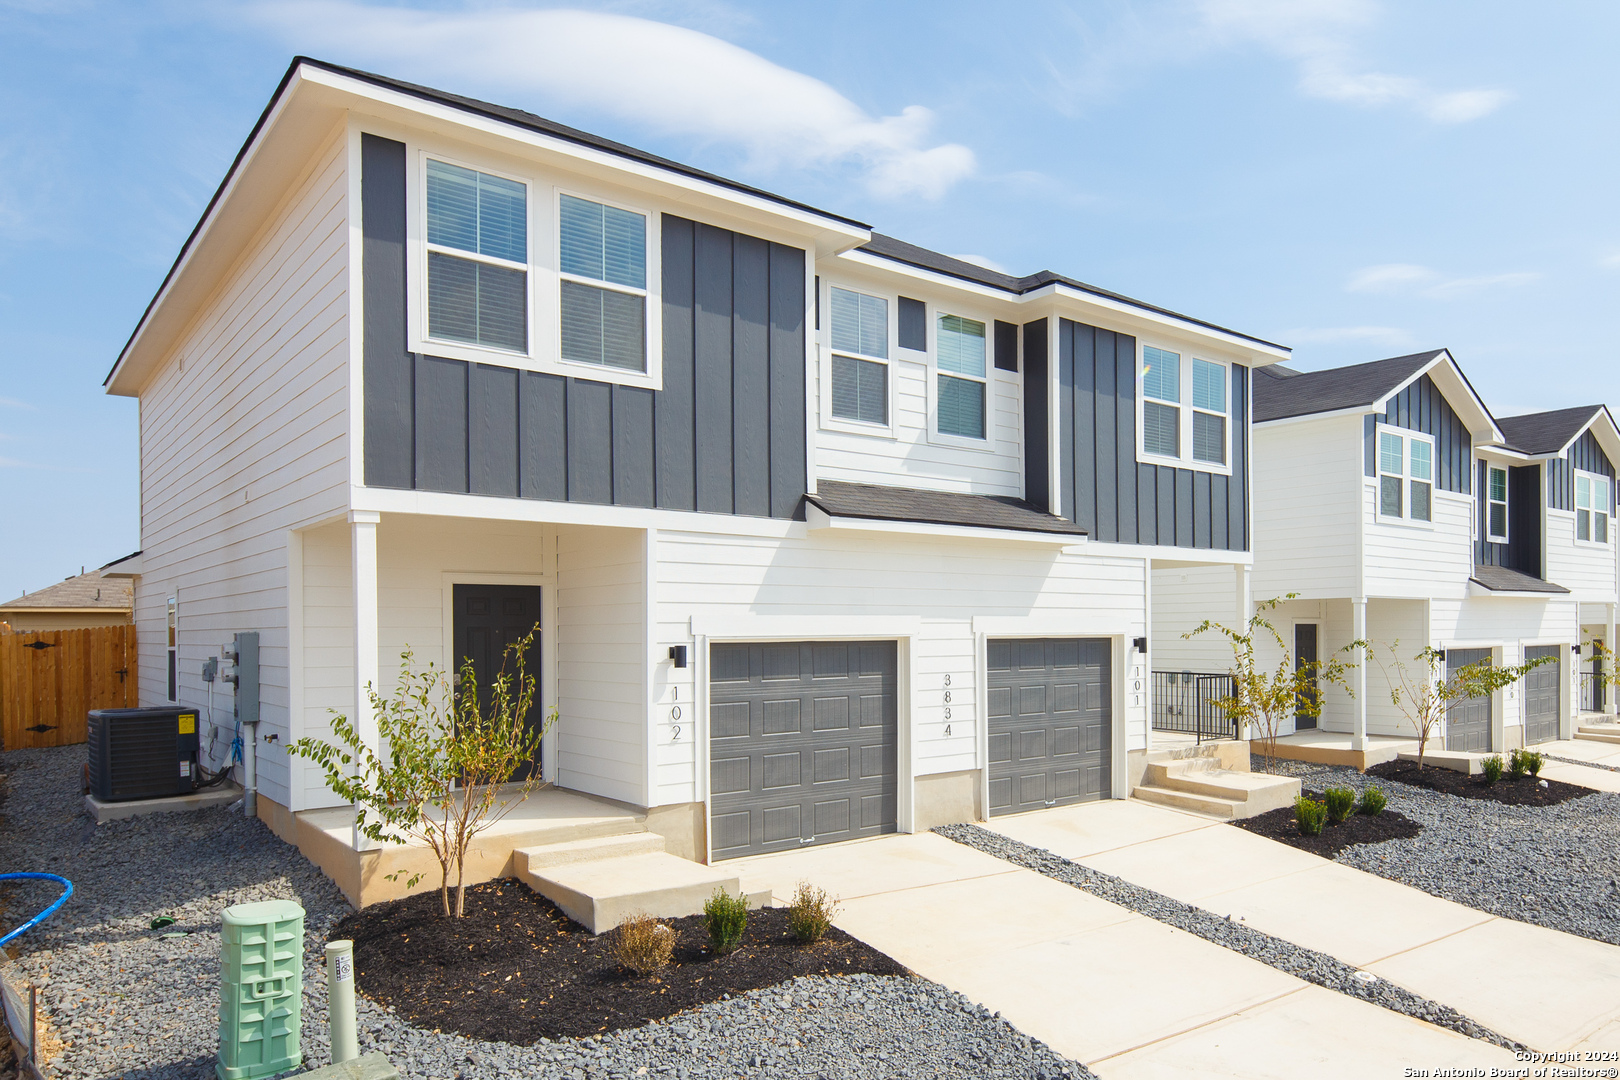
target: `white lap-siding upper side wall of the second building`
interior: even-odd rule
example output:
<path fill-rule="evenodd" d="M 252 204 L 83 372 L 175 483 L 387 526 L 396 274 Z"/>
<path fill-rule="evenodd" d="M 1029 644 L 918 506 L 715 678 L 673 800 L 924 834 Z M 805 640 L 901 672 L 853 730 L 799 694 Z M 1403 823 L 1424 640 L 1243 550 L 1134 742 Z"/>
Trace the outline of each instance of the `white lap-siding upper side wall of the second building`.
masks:
<path fill-rule="evenodd" d="M 1359 416 L 1254 429 L 1256 599 L 1354 593 L 1361 461 Z"/>

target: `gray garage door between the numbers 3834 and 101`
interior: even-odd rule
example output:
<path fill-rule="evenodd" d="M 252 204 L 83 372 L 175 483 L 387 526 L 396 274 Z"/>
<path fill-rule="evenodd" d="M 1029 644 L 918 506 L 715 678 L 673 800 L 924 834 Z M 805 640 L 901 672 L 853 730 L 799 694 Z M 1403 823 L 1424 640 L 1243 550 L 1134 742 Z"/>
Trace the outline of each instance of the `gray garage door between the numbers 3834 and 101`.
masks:
<path fill-rule="evenodd" d="M 990 813 L 1113 793 L 1106 638 L 988 643 Z"/>

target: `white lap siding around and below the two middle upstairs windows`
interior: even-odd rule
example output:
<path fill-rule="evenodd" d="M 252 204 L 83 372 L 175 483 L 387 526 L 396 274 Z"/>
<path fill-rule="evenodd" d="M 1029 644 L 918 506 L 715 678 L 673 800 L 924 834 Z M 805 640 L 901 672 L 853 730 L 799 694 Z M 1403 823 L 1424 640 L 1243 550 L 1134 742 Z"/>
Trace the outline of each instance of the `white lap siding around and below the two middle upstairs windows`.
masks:
<path fill-rule="evenodd" d="M 825 363 L 831 353 L 818 350 Z M 990 369 L 990 426 L 993 453 L 928 440 L 928 364 L 893 359 L 894 436 L 855 436 L 821 429 L 815 436 L 815 474 L 889 487 L 927 487 L 983 495 L 1024 494 L 1024 458 L 1019 437 L 1017 376 Z M 987 359 L 987 363 L 990 363 Z M 820 393 L 820 379 L 813 381 Z M 820 400 L 813 416 L 820 416 Z"/>

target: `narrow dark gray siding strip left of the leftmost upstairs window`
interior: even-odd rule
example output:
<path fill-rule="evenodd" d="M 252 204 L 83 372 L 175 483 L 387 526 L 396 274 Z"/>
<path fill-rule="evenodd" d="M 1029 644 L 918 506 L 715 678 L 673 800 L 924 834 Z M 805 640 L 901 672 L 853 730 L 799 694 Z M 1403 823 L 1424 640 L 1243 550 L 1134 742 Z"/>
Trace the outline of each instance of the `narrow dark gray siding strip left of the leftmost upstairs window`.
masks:
<path fill-rule="evenodd" d="M 360 136 L 360 233 L 364 476 L 374 487 L 411 487 L 415 385 L 405 351 L 403 142 Z"/>

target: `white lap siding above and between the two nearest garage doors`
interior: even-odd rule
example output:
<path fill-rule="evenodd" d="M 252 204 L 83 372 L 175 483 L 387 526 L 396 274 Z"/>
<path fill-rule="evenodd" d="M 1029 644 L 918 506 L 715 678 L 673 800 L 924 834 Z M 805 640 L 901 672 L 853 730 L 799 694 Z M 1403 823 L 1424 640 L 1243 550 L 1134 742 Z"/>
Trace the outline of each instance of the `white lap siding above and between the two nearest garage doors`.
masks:
<path fill-rule="evenodd" d="M 779 541 L 661 531 L 656 567 L 659 646 L 690 641 L 693 619 L 713 627 L 739 615 L 779 619 L 778 627 L 787 633 L 795 619 L 833 619 L 849 627 L 842 636 L 870 636 L 862 620 L 883 625 L 917 619 L 909 665 L 914 685 L 909 703 L 901 703 L 901 721 L 909 717 L 919 776 L 980 764 L 975 617 L 1035 617 L 1045 627 L 1042 635 L 1069 622 L 1077 636 L 1129 638 L 1140 635 L 1145 623 L 1142 560 L 1061 555 L 1022 544 L 902 536 Z M 841 635 L 818 630 L 804 636 Z M 747 630 L 735 638 L 747 640 Z M 949 721 L 944 675 L 951 675 Z M 679 688 L 690 699 L 697 690 L 692 678 L 692 669 L 671 672 L 664 693 Z M 672 742 L 667 724 L 659 724 L 658 798 L 693 800 L 701 746 Z M 1121 724 L 1128 745 L 1144 743 L 1145 711 L 1136 709 Z"/>

